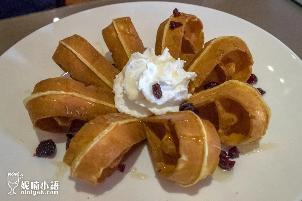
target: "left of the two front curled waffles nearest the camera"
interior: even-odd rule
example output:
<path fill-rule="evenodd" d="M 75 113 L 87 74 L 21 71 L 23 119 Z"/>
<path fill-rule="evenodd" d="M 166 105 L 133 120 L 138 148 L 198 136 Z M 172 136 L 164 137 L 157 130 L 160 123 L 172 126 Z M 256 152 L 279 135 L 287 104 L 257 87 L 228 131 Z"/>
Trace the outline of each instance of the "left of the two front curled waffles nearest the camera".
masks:
<path fill-rule="evenodd" d="M 96 185 L 111 176 L 130 148 L 144 139 L 140 119 L 124 113 L 101 115 L 71 139 L 63 162 L 71 166 L 72 177 Z"/>

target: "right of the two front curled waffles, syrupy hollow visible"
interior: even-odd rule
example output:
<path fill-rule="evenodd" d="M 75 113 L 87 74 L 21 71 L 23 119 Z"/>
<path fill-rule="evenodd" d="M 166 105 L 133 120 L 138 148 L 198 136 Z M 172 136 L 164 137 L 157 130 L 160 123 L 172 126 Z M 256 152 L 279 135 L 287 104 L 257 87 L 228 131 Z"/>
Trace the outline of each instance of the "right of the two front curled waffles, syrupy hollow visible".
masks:
<path fill-rule="evenodd" d="M 142 119 L 156 171 L 182 186 L 214 173 L 221 151 L 214 126 L 191 111 Z"/>

